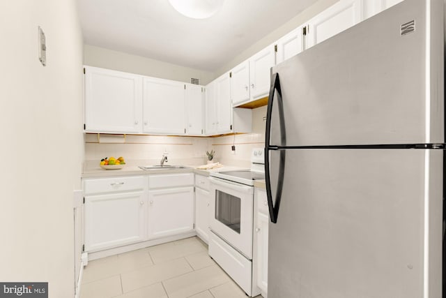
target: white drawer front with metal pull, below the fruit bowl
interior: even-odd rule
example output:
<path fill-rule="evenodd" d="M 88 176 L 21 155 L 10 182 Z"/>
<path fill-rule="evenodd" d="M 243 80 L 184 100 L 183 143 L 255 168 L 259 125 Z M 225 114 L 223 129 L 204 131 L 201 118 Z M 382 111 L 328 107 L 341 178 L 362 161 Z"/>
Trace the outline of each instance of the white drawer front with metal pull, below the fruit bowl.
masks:
<path fill-rule="evenodd" d="M 85 179 L 84 194 L 144 190 L 144 180 L 142 176 Z"/>

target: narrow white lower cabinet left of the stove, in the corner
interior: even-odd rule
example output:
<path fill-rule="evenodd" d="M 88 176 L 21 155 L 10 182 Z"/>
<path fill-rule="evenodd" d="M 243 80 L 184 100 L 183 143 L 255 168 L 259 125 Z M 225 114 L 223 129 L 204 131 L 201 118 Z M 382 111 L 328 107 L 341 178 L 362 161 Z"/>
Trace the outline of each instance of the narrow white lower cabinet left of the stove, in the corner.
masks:
<path fill-rule="evenodd" d="M 209 243 L 210 221 L 209 178 L 195 175 L 195 231 L 204 242 Z"/>

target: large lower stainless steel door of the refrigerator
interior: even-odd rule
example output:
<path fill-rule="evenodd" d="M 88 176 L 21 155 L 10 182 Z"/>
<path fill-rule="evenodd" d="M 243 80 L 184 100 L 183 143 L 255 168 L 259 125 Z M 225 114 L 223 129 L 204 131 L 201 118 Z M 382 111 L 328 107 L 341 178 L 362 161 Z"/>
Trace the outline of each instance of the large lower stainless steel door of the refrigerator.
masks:
<path fill-rule="evenodd" d="M 268 297 L 442 297 L 442 181 L 441 150 L 287 149 Z"/>

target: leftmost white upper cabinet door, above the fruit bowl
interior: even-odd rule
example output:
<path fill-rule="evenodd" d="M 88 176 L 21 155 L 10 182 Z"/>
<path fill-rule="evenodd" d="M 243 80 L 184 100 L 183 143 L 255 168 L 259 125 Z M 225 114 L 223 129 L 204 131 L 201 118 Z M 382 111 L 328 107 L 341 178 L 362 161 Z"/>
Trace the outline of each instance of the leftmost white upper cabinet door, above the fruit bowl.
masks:
<path fill-rule="evenodd" d="M 142 77 L 85 67 L 85 131 L 141 132 Z"/>

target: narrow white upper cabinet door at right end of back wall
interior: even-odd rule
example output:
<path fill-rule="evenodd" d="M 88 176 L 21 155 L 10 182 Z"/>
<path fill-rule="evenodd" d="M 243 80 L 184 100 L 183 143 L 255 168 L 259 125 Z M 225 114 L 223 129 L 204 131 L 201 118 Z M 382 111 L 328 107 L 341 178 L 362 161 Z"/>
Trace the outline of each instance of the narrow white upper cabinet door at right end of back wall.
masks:
<path fill-rule="evenodd" d="M 186 84 L 187 135 L 203 133 L 203 87 Z"/>

